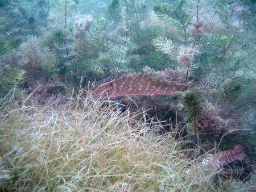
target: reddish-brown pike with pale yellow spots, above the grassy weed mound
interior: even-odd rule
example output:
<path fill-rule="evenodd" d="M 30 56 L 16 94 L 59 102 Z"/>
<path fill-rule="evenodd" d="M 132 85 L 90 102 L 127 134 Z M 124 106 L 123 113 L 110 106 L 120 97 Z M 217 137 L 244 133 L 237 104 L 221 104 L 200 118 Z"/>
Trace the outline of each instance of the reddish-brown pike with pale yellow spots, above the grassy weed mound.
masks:
<path fill-rule="evenodd" d="M 117 80 L 97 86 L 94 90 L 96 98 L 117 98 L 124 95 L 174 95 L 186 87 L 174 83 L 152 81 L 142 73 L 121 76 Z"/>

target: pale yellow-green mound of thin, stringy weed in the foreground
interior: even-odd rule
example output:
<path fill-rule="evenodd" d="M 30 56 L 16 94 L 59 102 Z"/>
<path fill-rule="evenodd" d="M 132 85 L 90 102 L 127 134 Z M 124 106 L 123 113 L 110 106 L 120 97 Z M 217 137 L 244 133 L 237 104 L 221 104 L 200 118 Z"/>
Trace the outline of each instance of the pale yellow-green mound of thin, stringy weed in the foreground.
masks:
<path fill-rule="evenodd" d="M 158 134 L 160 123 L 137 120 L 111 101 L 80 95 L 67 100 L 1 107 L 2 191 L 250 189 L 235 180 L 217 181 L 220 170 L 214 168 L 187 174 L 199 159 L 187 158 L 185 141 L 172 133 Z"/>

